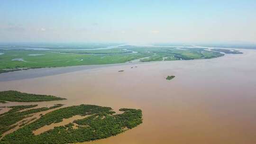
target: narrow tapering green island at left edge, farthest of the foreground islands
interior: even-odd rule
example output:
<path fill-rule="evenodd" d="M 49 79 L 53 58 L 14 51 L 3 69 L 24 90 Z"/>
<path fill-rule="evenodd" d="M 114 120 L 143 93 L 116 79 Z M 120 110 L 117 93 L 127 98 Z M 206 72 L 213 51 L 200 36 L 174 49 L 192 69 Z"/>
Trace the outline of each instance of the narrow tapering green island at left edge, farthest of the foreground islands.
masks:
<path fill-rule="evenodd" d="M 49 95 L 37 95 L 19 92 L 16 90 L 0 91 L 1 102 L 5 101 L 18 101 L 18 102 L 33 102 L 33 101 L 50 101 L 50 100 L 63 100 L 64 98 L 58 98 Z"/>

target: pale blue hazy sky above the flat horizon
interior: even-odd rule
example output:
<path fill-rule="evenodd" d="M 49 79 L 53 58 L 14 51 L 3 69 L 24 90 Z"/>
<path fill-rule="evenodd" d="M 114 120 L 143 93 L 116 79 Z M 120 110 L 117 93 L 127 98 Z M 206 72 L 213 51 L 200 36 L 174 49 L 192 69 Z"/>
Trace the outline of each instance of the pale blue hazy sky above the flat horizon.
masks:
<path fill-rule="evenodd" d="M 256 1 L 0 0 L 0 42 L 256 44 Z"/>

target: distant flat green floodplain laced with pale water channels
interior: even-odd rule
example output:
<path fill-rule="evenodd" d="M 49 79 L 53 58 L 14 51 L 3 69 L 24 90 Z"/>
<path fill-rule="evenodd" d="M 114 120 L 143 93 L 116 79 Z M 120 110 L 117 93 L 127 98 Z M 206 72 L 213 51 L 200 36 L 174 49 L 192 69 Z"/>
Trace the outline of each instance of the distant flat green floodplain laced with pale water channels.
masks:
<path fill-rule="evenodd" d="M 111 47 L 112 46 L 112 47 Z M 110 47 L 110 48 L 109 48 Z M 164 46 L 0 46 L 0 72 L 73 65 L 209 59 L 223 56 L 204 48 Z"/>

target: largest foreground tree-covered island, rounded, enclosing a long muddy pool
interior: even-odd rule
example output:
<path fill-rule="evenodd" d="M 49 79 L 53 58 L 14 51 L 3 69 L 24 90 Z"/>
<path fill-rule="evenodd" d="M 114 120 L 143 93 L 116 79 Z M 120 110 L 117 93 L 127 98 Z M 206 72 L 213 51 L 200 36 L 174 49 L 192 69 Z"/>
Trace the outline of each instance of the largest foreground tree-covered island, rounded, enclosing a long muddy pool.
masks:
<path fill-rule="evenodd" d="M 142 123 L 142 111 L 140 109 L 121 108 L 120 111 L 124 113 L 113 115 L 115 112 L 111 108 L 95 105 L 60 108 L 9 135 L 5 135 L 0 143 L 67 144 L 85 142 L 117 135 Z M 33 131 L 40 127 L 61 122 L 63 118 L 75 115 L 88 117 L 75 120 L 65 126 L 54 127 L 39 135 L 33 134 Z M 75 129 L 73 128 L 74 123 L 78 125 Z"/>

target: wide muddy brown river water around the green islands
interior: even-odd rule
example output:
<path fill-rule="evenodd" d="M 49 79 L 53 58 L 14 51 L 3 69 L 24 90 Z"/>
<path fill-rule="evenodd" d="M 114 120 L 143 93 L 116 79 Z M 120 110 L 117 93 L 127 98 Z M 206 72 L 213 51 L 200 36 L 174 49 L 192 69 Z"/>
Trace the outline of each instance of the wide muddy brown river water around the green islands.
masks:
<path fill-rule="evenodd" d="M 84 144 L 256 144 L 256 50 L 241 51 L 208 60 L 131 63 L 132 69 L 116 65 L 2 81 L 0 90 L 67 98 L 37 102 L 42 107 L 142 109 L 143 124 Z M 176 77 L 167 81 L 167 75 Z M 18 104 L 24 103 L 0 106 Z"/>

